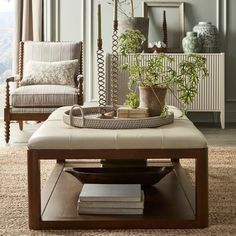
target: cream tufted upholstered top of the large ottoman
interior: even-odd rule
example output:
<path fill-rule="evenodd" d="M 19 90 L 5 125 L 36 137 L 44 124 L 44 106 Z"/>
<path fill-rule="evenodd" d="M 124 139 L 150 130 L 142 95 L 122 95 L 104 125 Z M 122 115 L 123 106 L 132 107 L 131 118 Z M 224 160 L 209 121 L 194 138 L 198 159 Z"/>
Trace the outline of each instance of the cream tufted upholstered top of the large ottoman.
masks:
<path fill-rule="evenodd" d="M 175 112 L 173 124 L 158 128 L 103 130 L 74 128 L 63 123 L 69 107 L 54 111 L 32 135 L 29 149 L 190 149 L 205 148 L 202 133 L 181 112 Z"/>

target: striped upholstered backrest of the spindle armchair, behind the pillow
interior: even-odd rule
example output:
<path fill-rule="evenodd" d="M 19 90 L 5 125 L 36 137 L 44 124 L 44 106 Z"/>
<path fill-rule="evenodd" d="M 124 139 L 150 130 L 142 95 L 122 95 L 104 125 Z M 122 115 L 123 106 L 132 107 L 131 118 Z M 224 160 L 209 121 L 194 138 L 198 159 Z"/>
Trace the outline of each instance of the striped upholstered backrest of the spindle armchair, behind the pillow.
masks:
<path fill-rule="evenodd" d="M 76 76 L 82 73 L 82 42 L 24 42 L 23 50 L 23 76 L 24 65 L 29 61 L 59 62 L 78 59 Z M 75 76 L 75 84 L 76 83 Z"/>

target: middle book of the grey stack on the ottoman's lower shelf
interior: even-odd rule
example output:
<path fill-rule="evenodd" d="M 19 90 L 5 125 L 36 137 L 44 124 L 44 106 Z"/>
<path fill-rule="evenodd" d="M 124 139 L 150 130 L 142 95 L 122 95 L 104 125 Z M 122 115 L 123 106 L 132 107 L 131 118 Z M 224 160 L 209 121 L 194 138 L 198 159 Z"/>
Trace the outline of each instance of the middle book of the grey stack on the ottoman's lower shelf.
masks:
<path fill-rule="evenodd" d="M 141 201 L 137 202 L 118 202 L 118 201 L 80 201 L 78 200 L 78 210 L 80 208 L 124 208 L 124 209 L 138 209 L 144 208 L 144 192 L 142 191 Z"/>

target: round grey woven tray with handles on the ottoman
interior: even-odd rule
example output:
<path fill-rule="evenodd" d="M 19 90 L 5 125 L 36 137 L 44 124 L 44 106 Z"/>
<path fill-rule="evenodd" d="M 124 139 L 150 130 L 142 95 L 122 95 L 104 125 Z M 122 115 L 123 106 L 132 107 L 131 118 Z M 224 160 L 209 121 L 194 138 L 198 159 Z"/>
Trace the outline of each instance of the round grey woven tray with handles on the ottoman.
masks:
<path fill-rule="evenodd" d="M 112 107 L 106 107 L 106 112 L 113 110 Z M 113 118 L 101 119 L 99 116 L 99 107 L 81 107 L 74 105 L 63 115 L 63 121 L 73 127 L 93 128 L 93 129 L 138 129 L 151 128 L 173 123 L 174 114 L 169 112 L 166 117 L 153 116 L 145 118 Z"/>

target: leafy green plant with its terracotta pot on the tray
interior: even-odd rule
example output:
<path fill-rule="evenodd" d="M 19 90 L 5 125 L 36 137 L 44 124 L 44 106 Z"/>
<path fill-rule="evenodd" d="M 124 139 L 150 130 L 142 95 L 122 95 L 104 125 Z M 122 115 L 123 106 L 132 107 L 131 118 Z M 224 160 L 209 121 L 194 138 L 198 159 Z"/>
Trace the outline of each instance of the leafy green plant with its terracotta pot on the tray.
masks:
<path fill-rule="evenodd" d="M 119 37 L 120 54 L 127 56 L 134 49 L 140 48 L 144 40 L 140 31 L 127 29 Z M 176 70 L 174 58 L 168 54 L 155 54 L 155 57 L 145 61 L 144 54 L 135 53 L 133 63 L 122 65 L 122 69 L 130 73 L 130 92 L 125 103 L 137 107 L 139 101 L 140 107 L 149 109 L 150 116 L 167 114 L 167 90 L 177 99 L 183 114 L 186 113 L 187 106 L 193 102 L 198 92 L 198 83 L 208 74 L 206 59 L 197 54 L 188 54 Z"/>

